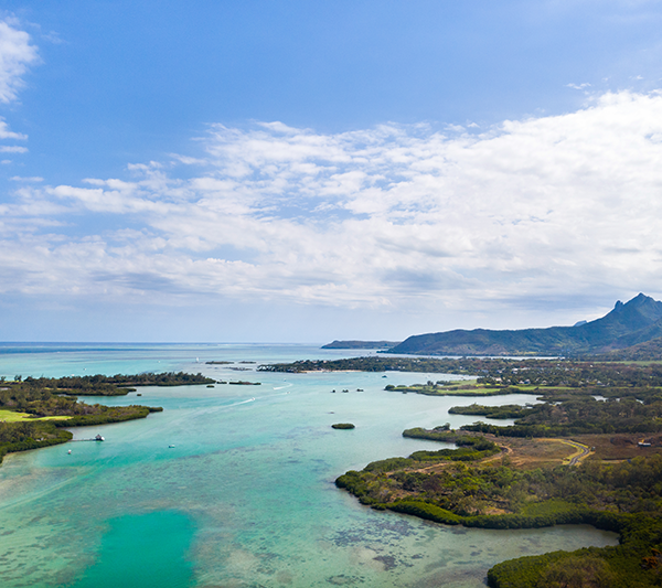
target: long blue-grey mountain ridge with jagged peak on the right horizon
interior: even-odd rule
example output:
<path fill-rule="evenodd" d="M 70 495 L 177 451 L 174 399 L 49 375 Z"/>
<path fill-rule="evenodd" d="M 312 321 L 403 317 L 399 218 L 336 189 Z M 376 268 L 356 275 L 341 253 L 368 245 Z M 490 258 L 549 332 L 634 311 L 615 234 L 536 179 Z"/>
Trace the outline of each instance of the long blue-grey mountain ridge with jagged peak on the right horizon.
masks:
<path fill-rule="evenodd" d="M 429 355 L 576 355 L 607 353 L 662 336 L 662 302 L 640 293 L 590 322 L 574 327 L 492 331 L 474 329 L 413 335 L 392 353 Z"/>

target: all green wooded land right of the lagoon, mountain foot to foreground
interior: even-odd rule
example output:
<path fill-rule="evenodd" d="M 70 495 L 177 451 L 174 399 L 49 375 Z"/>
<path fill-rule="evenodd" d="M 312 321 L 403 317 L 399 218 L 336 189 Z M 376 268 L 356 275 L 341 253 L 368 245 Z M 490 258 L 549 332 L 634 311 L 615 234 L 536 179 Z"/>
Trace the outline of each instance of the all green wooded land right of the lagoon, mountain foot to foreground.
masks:
<path fill-rule="evenodd" d="M 499 564 L 489 571 L 492 588 L 662 586 L 662 456 L 645 453 L 643 448 L 642 457 L 600 462 L 589 456 L 578 466 L 558 464 L 563 455 L 556 461 L 544 458 L 549 455 L 544 448 L 554 446 L 551 438 L 581 447 L 572 440 L 577 435 L 590 435 L 595 443 L 609 446 L 618 445 L 613 435 L 630 434 L 634 448 L 641 438 L 651 439 L 656 447 L 660 438 L 649 434 L 662 432 L 662 365 L 442 361 L 453 362 L 446 365 L 450 367 L 446 373 L 476 375 L 477 383 L 427 382 L 387 389 L 445 394 L 452 386 L 458 388 L 452 392 L 462 395 L 495 389 L 501 394 L 532 393 L 542 402 L 453 407 L 450 414 L 515 423 L 500 427 L 479 421 L 458 431 L 448 424 L 431 430 L 408 429 L 403 432 L 406 437 L 458 448 L 376 461 L 362 471 L 346 472 L 337 484 L 374 509 L 444 524 L 482 528 L 590 524 L 620 535 L 616 547 L 555 552 Z M 535 458 L 531 449 L 535 442 L 526 439 L 540 437 L 547 441 L 537 442 L 541 458 Z M 499 452 L 495 441 L 500 439 L 508 452 Z M 513 453 L 513 447 L 521 452 Z"/>

